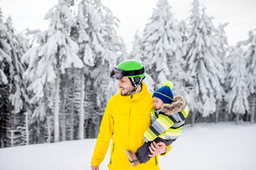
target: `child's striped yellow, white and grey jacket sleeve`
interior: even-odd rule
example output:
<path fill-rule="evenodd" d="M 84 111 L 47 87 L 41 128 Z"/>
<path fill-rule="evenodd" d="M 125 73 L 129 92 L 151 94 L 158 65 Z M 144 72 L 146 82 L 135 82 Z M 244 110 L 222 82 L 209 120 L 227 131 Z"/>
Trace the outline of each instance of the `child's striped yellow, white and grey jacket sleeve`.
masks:
<path fill-rule="evenodd" d="M 172 125 L 176 123 L 176 119 L 173 115 L 159 114 L 159 118 L 156 118 L 154 123 L 144 133 L 145 142 L 153 141 L 161 133 L 168 130 Z"/>

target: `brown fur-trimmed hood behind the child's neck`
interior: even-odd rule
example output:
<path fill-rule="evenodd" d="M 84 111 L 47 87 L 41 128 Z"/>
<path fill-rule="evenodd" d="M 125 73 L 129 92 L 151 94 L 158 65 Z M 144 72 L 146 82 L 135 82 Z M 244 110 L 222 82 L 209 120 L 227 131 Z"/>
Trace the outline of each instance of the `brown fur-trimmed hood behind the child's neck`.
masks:
<path fill-rule="evenodd" d="M 180 112 L 184 106 L 186 106 L 186 99 L 183 96 L 175 96 L 173 103 L 164 103 L 161 106 L 161 111 L 166 115 L 171 115 Z"/>

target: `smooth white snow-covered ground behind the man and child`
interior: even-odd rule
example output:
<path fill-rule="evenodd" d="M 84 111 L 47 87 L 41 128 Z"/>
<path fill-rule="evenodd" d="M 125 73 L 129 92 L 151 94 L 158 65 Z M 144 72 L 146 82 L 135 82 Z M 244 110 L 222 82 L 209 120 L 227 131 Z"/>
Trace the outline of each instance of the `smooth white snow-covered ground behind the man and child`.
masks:
<path fill-rule="evenodd" d="M 93 140 L 0 149 L 1 170 L 89 170 Z M 256 124 L 198 124 L 183 128 L 161 170 L 255 170 Z M 107 153 L 100 170 L 107 169 Z"/>

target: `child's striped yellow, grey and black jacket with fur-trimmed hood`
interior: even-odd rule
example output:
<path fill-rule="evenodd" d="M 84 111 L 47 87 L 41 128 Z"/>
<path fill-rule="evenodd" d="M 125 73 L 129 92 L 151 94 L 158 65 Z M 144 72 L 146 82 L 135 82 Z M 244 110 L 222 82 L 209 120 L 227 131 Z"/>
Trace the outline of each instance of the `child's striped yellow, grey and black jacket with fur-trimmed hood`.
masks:
<path fill-rule="evenodd" d="M 180 135 L 189 109 L 183 96 L 175 96 L 171 104 L 164 103 L 161 110 L 151 109 L 151 126 L 144 133 L 145 142 L 156 137 L 175 141 Z"/>

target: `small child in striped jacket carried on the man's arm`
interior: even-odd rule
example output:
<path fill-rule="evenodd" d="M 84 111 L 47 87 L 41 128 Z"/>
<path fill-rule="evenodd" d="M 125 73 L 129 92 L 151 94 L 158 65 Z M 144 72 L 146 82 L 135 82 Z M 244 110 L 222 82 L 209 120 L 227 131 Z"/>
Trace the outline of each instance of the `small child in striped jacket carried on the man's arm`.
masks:
<path fill-rule="evenodd" d="M 151 159 L 149 146 L 153 141 L 164 142 L 170 147 L 169 145 L 181 135 L 189 110 L 183 96 L 174 97 L 171 91 L 173 86 L 171 81 L 165 81 L 164 85 L 154 92 L 154 108 L 150 112 L 151 126 L 144 133 L 145 142 L 136 153 L 129 149 L 125 150 L 132 167 Z"/>

